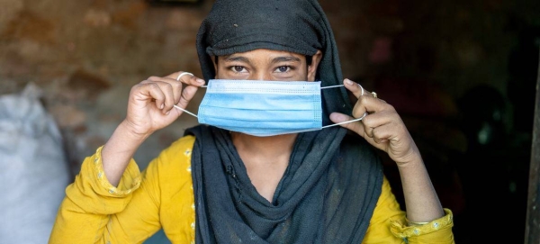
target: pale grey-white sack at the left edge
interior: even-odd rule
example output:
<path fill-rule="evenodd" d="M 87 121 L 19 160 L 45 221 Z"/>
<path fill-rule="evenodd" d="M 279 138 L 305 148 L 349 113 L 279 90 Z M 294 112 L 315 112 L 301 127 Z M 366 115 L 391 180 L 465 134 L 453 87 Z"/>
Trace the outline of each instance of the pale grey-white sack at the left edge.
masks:
<path fill-rule="evenodd" d="M 58 127 L 40 89 L 0 96 L 0 243 L 49 241 L 69 181 Z"/>

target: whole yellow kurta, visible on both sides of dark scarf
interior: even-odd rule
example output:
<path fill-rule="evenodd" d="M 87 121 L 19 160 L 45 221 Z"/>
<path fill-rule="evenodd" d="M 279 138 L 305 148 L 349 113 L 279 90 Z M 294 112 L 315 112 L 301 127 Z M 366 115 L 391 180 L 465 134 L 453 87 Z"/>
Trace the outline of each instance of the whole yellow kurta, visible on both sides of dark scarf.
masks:
<path fill-rule="evenodd" d="M 101 149 L 85 158 L 67 186 L 49 243 L 142 243 L 163 229 L 172 243 L 194 243 L 191 175 L 193 136 L 176 140 L 142 172 L 133 159 L 118 187 L 103 173 Z M 383 191 L 362 243 L 454 243 L 452 212 L 408 227 L 405 212 L 383 180 Z"/>

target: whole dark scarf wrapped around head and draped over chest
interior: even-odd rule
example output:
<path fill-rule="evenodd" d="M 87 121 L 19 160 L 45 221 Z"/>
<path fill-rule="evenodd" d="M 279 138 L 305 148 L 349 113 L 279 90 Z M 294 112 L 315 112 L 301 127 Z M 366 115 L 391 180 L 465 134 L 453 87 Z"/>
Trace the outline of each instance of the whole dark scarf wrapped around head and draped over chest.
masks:
<path fill-rule="evenodd" d="M 321 86 L 342 82 L 338 49 L 315 0 L 217 0 L 197 34 L 205 80 L 211 56 L 249 50 L 322 51 Z M 323 90 L 329 113 L 351 113 L 345 88 Z M 257 193 L 229 132 L 198 125 L 192 152 L 196 243 L 361 243 L 381 194 L 383 168 L 374 149 L 347 130 L 298 134 L 272 203 Z"/>

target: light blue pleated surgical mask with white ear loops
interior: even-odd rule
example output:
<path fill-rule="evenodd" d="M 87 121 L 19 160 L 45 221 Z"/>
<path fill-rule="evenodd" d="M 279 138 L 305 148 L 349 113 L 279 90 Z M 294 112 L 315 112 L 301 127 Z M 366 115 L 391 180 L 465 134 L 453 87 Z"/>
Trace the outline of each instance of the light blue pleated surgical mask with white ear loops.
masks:
<path fill-rule="evenodd" d="M 199 123 L 258 137 L 317 131 L 346 123 L 322 126 L 320 89 L 333 87 L 338 86 L 320 87 L 320 81 L 211 79 L 198 115 L 176 108 Z"/>

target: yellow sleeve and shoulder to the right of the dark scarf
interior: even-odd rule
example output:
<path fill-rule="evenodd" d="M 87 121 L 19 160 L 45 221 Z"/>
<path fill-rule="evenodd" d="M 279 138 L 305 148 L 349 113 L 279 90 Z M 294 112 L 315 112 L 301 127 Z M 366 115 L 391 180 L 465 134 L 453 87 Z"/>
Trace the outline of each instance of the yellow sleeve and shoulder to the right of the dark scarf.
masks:
<path fill-rule="evenodd" d="M 383 189 L 375 206 L 374 215 L 365 233 L 363 244 L 452 244 L 454 234 L 453 215 L 445 209 L 446 215 L 419 226 L 407 226 L 406 212 L 397 202 L 388 179 L 383 179 Z"/>

